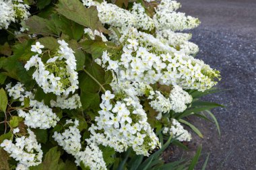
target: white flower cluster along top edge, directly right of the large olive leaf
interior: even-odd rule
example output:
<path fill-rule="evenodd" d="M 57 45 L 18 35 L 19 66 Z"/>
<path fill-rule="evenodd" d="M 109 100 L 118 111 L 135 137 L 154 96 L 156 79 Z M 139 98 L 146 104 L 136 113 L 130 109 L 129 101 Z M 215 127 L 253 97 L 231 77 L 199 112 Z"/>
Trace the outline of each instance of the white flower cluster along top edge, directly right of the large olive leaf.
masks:
<path fill-rule="evenodd" d="M 130 26 L 143 30 L 152 30 L 154 28 L 153 19 L 146 15 L 145 9 L 139 3 L 134 3 L 132 10 L 128 11 L 106 1 L 102 3 L 92 0 L 82 1 L 88 7 L 91 5 L 97 7 L 98 17 L 103 24 L 117 28 L 127 28 Z"/>

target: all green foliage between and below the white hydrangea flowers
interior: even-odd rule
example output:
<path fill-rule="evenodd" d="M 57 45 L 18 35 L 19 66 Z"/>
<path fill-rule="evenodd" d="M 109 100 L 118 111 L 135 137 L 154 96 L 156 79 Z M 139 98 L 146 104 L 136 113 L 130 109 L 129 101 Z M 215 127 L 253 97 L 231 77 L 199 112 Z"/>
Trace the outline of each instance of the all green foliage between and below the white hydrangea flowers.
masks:
<path fill-rule="evenodd" d="M 102 0 L 98 0 L 102 1 Z M 146 1 L 137 1 L 141 3 L 146 9 L 146 13 L 150 16 L 154 13 L 154 3 L 147 3 Z M 32 131 L 36 135 L 37 141 L 41 144 L 42 150 L 44 151 L 44 161 L 35 167 L 30 167 L 30 169 L 36 170 L 70 170 L 77 169 L 73 161 L 73 156 L 67 155 L 62 148 L 58 148 L 57 143 L 53 140 L 54 132 L 63 132 L 65 128 L 65 120 L 76 119 L 79 121 L 78 129 L 82 135 L 82 147 L 86 146 L 85 138 L 90 136 L 88 128 L 90 128 L 94 118 L 98 116 L 98 110 L 100 105 L 100 96 L 106 90 L 112 91 L 110 83 L 113 80 L 113 74 L 111 71 L 105 71 L 100 65 L 94 62 L 94 59 L 100 58 L 102 52 L 108 51 L 111 54 L 111 58 L 119 59 L 121 54 L 122 44 L 117 46 L 113 42 L 103 42 L 102 38 L 99 36 L 95 37 L 95 40 L 86 38 L 84 36 L 84 28 L 91 28 L 92 30 L 98 30 L 99 32 L 108 34 L 108 26 L 103 26 L 98 18 L 98 11 L 96 7 L 92 6 L 89 8 L 84 7 L 81 1 L 78 0 L 26 0 L 26 4 L 32 5 L 31 11 L 35 14 L 26 20 L 26 23 L 22 24 L 25 28 L 29 28 L 29 31 L 19 36 L 13 36 L 10 32 L 1 35 L 1 45 L 0 45 L 0 85 L 5 87 L 7 82 L 20 81 L 23 83 L 28 91 L 33 90 L 34 99 L 38 101 L 44 101 L 46 105 L 51 105 L 51 100 L 57 99 L 57 96 L 53 93 L 44 93 L 44 91 L 36 85 L 35 81 L 32 79 L 33 69 L 26 71 L 24 69 L 24 64 L 35 54 L 31 51 L 31 45 L 35 42 L 40 42 L 44 45 L 44 49 L 47 52 L 42 56 L 42 60 L 47 60 L 49 58 L 48 54 L 53 55 L 59 48 L 57 40 L 65 40 L 69 47 L 75 52 L 75 59 L 77 64 L 77 72 L 79 74 L 79 89 L 76 93 L 79 94 L 81 98 L 82 108 L 77 110 L 62 110 L 60 108 L 53 108 L 53 112 L 61 119 L 57 126 L 51 128 L 51 130 L 42 130 L 39 128 L 32 128 Z M 130 9 L 131 2 L 127 0 L 117 0 L 115 1 L 119 7 L 125 9 Z M 18 28 L 17 28 L 18 30 Z M 120 38 L 121 34 L 117 28 L 113 28 L 117 36 Z M 13 31 L 13 30 L 11 30 Z M 154 33 L 155 30 L 152 30 Z M 30 38 L 30 34 L 36 34 L 34 38 Z M 2 35 L 3 38 L 2 38 Z M 108 37 L 108 36 L 107 36 Z M 154 86 L 154 85 L 152 85 Z M 156 85 L 158 86 L 158 85 Z M 171 87 L 159 87 L 162 92 L 170 91 Z M 195 133 L 200 137 L 203 134 L 197 129 L 193 124 L 187 121 L 188 116 L 197 116 L 203 118 L 209 122 L 216 124 L 218 132 L 220 134 L 220 127 L 216 117 L 210 110 L 212 108 L 224 107 L 218 103 L 201 101 L 199 97 L 207 95 L 210 93 L 216 93 L 218 89 L 209 89 L 204 92 L 190 90 L 189 93 L 193 97 L 193 102 L 188 105 L 188 109 L 183 113 L 174 114 L 173 112 L 164 114 L 161 122 L 156 120 L 158 112 L 150 107 L 148 100 L 142 100 L 143 109 L 148 114 L 148 122 L 157 132 L 160 142 L 162 143 L 162 148 L 152 151 L 150 157 L 143 157 L 143 155 L 135 155 L 132 148 L 129 148 L 125 153 L 116 153 L 113 148 L 108 146 L 101 146 L 104 161 L 108 166 L 108 169 L 127 169 L 127 170 L 164 170 L 164 169 L 194 169 L 199 155 L 201 153 L 201 146 L 198 148 L 195 157 L 192 161 L 187 159 L 181 159 L 179 161 L 174 161 L 171 163 L 164 163 L 162 160 L 162 153 L 170 145 L 176 145 L 183 149 L 188 149 L 183 142 L 179 142 L 175 138 L 169 138 L 169 136 L 164 136 L 162 134 L 163 127 L 168 124 L 170 118 L 176 118 L 182 124 L 189 126 Z M 16 107 L 26 110 L 30 110 L 30 99 L 24 98 L 24 105 L 18 105 L 18 100 L 10 99 L 10 104 L 13 104 L 11 108 L 11 116 L 7 115 L 8 118 L 0 124 L 0 132 L 7 132 L 1 134 L 0 143 L 5 139 L 13 139 L 17 137 L 17 134 L 12 134 L 13 128 L 20 128 L 21 134 L 26 134 L 26 125 L 24 124 L 23 118 L 17 116 L 15 111 Z M 6 110 L 8 105 L 8 98 L 5 90 L 0 89 L 0 118 L 5 118 Z M 12 106 L 11 106 L 12 107 Z M 12 112 L 15 111 L 15 112 Z M 8 113 L 9 114 L 9 113 Z M 16 116 L 15 116 L 16 115 Z M 6 126 L 5 126 L 5 122 Z M 4 128 L 2 128 L 4 127 Z M 19 134 L 20 135 L 20 134 Z M 46 153 L 46 154 L 45 154 Z M 9 169 L 9 164 L 11 166 L 14 163 L 8 163 L 7 154 L 3 149 L 0 148 L 0 169 Z M 70 159 L 71 158 L 71 159 Z M 203 165 L 205 169 L 207 160 Z M 15 162 L 16 163 L 16 162 Z M 15 168 L 15 167 L 14 167 Z M 80 169 L 80 168 L 79 168 Z M 89 167 L 85 167 L 81 163 L 81 169 L 88 170 Z"/>

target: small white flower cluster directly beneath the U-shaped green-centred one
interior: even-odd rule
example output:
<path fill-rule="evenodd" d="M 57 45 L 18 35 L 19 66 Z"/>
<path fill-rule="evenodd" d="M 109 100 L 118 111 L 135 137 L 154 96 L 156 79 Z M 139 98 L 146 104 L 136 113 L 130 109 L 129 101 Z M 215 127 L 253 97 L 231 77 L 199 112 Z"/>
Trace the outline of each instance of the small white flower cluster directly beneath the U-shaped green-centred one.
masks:
<path fill-rule="evenodd" d="M 65 95 L 63 96 L 57 95 L 56 101 L 51 100 L 51 107 L 75 110 L 77 108 L 81 108 L 82 103 L 80 101 L 80 96 L 78 94 L 72 95 L 71 97 L 68 97 Z"/>

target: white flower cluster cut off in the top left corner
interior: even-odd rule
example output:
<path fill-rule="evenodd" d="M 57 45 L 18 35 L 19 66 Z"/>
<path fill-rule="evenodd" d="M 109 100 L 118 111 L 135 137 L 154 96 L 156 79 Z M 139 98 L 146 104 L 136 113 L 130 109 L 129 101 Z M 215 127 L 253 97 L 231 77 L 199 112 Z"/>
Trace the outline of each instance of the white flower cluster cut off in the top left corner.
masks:
<path fill-rule="evenodd" d="M 0 0 L 0 30 L 7 29 L 11 22 L 21 22 L 28 19 L 30 7 L 22 0 Z"/>

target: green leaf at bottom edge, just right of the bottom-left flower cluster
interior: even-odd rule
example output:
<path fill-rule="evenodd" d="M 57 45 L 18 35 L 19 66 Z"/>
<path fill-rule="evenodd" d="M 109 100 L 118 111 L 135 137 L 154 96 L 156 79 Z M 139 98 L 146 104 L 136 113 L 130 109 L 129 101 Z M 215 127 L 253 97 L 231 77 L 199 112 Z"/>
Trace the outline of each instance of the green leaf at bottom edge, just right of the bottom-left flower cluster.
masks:
<path fill-rule="evenodd" d="M 30 167 L 31 170 L 61 170 L 65 167 L 63 162 L 59 163 L 61 152 L 57 150 L 58 146 L 51 148 L 44 156 L 44 161 L 34 167 Z"/>

